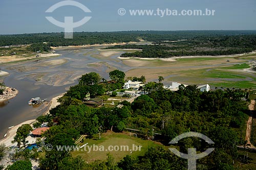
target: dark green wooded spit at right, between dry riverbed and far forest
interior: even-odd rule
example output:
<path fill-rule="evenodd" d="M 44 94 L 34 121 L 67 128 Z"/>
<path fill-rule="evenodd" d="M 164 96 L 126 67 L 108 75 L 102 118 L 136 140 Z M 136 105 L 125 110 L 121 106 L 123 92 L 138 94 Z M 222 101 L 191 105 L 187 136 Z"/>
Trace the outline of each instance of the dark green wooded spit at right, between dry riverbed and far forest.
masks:
<path fill-rule="evenodd" d="M 182 41 L 158 41 L 155 45 L 115 45 L 105 49 L 141 49 L 121 57 L 167 58 L 174 56 L 219 56 L 249 53 L 256 50 L 256 35 L 205 36 Z"/>

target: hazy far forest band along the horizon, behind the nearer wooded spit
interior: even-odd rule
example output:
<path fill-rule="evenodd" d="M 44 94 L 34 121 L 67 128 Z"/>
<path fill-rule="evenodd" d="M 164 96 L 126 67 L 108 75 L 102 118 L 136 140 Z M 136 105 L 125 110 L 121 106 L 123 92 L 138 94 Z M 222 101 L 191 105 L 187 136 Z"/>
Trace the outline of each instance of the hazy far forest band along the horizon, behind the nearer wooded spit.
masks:
<path fill-rule="evenodd" d="M 195 37 L 215 37 L 230 35 L 256 35 L 256 31 L 123 31 L 123 32 L 80 32 L 73 39 L 65 39 L 64 33 L 35 33 L 19 35 L 0 35 L 0 46 L 35 44 L 48 42 L 49 46 L 68 46 L 83 44 L 102 44 L 139 41 L 174 41 Z"/>

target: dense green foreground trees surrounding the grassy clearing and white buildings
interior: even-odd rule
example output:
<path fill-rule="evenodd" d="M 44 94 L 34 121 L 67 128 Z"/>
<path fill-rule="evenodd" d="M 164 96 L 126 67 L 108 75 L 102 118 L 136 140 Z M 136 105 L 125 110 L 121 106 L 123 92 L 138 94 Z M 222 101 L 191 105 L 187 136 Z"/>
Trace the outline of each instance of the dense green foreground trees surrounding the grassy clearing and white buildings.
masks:
<path fill-rule="evenodd" d="M 215 151 L 198 160 L 198 169 L 234 169 L 232 162 L 238 158 L 236 145 L 244 143 L 242 133 L 245 133 L 248 118 L 247 103 L 241 101 L 244 91 L 217 89 L 200 92 L 196 85 L 181 85 L 173 92 L 163 89 L 161 82 L 148 82 L 142 89 L 147 95 L 140 95 L 132 104 L 123 101 L 121 108 L 93 108 L 82 103 L 87 92 L 101 96 L 109 87 L 120 88 L 124 77 L 120 70 L 110 72 L 113 81 L 102 82 L 95 72 L 83 75 L 79 84 L 58 100 L 60 105 L 50 110 L 51 114 L 37 118 L 34 127 L 48 123 L 50 130 L 44 134 L 45 143 L 52 144 L 53 148 L 56 145 L 75 145 L 76 139 L 83 134 L 93 138 L 99 127 L 101 132 L 122 132 L 125 127 L 139 129 L 142 139 L 152 138 L 154 127 L 155 132 L 161 133 L 158 140 L 164 145 L 184 132 L 200 132 L 215 142 Z M 173 147 L 186 153 L 187 148 L 203 152 L 209 145 L 190 137 Z M 144 156 L 126 156 L 119 162 L 113 162 L 113 156 L 108 155 L 106 161 L 89 164 L 81 157 L 72 157 L 71 152 L 53 149 L 45 151 L 39 162 L 40 169 L 187 169 L 186 160 L 163 147 L 150 148 Z"/>

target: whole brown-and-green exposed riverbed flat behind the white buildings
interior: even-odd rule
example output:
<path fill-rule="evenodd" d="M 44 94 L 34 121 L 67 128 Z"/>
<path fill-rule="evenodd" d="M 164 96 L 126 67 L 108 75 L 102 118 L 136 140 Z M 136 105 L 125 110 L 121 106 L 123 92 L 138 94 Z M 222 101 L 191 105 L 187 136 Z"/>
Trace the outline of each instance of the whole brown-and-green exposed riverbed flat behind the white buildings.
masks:
<path fill-rule="evenodd" d="M 211 88 L 252 88 L 256 89 L 255 72 L 247 71 L 249 62 L 244 59 L 256 59 L 256 56 L 247 57 L 189 57 L 155 59 L 122 59 L 123 63 L 138 68 L 126 72 L 127 77 L 144 75 L 148 81 L 157 81 L 163 76 L 165 84 L 179 82 L 183 84 L 209 84 Z M 241 60 L 243 59 L 243 60 Z M 227 62 L 229 60 L 229 62 Z M 233 64 L 232 64 L 233 63 Z M 241 63 L 241 64 L 239 64 Z M 141 67 L 141 68 L 140 68 Z M 150 68 L 143 68 L 150 67 Z M 164 68 L 166 67 L 166 68 Z"/>

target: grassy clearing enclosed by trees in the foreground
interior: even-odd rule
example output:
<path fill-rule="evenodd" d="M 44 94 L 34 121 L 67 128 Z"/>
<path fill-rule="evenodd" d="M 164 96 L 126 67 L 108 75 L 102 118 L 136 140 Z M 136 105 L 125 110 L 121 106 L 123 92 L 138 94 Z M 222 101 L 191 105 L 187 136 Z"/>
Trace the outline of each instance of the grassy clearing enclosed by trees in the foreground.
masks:
<path fill-rule="evenodd" d="M 101 135 L 101 139 L 98 139 L 99 138 L 98 135 L 96 135 L 95 138 L 96 139 L 85 139 L 83 143 L 80 143 L 79 145 L 88 143 L 89 147 L 93 147 L 93 145 L 97 145 L 98 147 L 102 148 L 103 146 L 104 147 L 103 151 L 91 151 L 90 153 L 88 153 L 89 152 L 89 149 L 88 149 L 87 151 L 72 152 L 72 155 L 74 157 L 80 155 L 87 162 L 93 162 L 95 160 L 106 160 L 107 158 L 106 154 L 110 153 L 115 157 L 115 161 L 117 162 L 117 161 L 120 161 L 126 155 L 142 156 L 145 154 L 148 148 L 155 147 L 157 145 L 162 145 L 151 140 L 143 140 L 140 138 L 136 138 L 133 135 L 130 137 L 129 133 L 124 134 L 124 133 L 115 133 L 110 131 L 103 133 Z M 108 150 L 110 146 L 120 147 L 121 145 L 129 146 L 129 151 L 109 151 Z M 132 152 L 131 150 L 133 150 L 133 145 L 137 147 L 142 146 L 141 150 Z M 134 147 L 134 149 L 135 148 L 136 147 Z"/>

